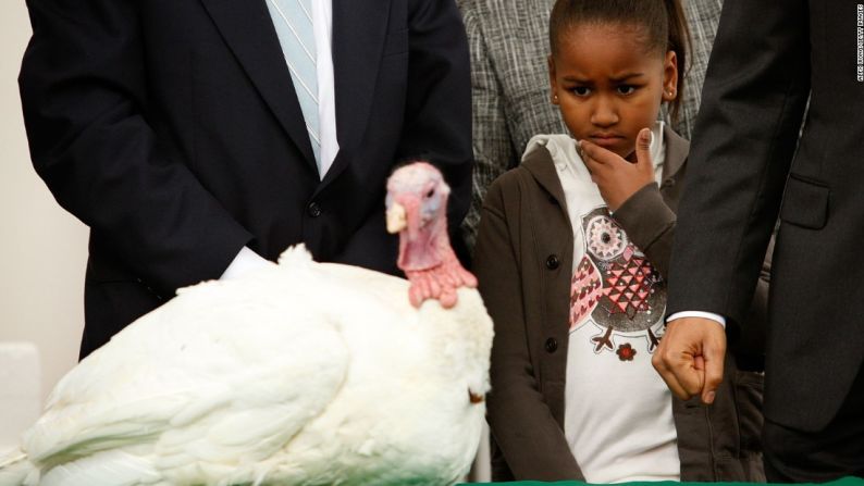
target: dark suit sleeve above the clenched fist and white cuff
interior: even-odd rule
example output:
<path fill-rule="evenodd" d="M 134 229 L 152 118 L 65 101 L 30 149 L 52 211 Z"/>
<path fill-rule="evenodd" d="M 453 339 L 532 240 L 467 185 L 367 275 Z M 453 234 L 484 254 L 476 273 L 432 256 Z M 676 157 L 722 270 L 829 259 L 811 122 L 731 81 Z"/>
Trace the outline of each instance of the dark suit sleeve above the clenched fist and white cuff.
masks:
<path fill-rule="evenodd" d="M 667 311 L 741 322 L 810 90 L 807 2 L 727 0 L 679 207 Z"/>

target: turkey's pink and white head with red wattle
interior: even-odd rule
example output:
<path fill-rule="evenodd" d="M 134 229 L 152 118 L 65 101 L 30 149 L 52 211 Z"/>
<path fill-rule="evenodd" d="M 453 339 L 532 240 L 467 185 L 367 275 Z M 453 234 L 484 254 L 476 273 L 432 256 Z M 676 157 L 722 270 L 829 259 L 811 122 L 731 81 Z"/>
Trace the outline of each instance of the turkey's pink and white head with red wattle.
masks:
<path fill-rule="evenodd" d="M 456 289 L 477 287 L 447 236 L 449 194 L 444 176 L 427 162 L 399 167 L 387 180 L 387 230 L 399 234 L 397 265 L 411 283 L 408 297 L 415 307 L 437 299 L 452 308 Z"/>

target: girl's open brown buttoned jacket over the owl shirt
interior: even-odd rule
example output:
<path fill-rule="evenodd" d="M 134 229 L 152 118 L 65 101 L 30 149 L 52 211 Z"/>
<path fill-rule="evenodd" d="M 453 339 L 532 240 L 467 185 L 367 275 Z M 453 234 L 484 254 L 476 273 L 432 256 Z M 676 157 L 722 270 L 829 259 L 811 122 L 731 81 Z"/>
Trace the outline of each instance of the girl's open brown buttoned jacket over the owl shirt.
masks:
<path fill-rule="evenodd" d="M 663 183 L 639 190 L 614 217 L 666 276 L 689 142 L 668 128 L 664 138 Z M 572 251 L 564 190 L 548 152 L 536 150 L 490 186 L 474 252 L 495 322 L 487 409 L 495 481 L 584 479 L 563 432 Z M 746 326 L 756 336 L 729 329 L 730 349 L 760 356 L 766 296 L 767 278 L 751 312 L 760 325 Z M 762 375 L 739 370 L 731 353 L 713 406 L 674 399 L 681 481 L 764 481 L 761 404 Z"/>

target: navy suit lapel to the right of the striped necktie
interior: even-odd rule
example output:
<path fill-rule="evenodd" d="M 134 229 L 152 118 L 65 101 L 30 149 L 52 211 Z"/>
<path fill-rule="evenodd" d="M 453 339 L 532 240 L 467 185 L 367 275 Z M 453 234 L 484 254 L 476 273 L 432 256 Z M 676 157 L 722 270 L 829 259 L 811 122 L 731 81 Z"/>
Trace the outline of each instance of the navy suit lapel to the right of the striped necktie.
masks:
<path fill-rule="evenodd" d="M 333 80 L 340 153 L 323 185 L 345 170 L 366 133 L 388 13 L 388 0 L 333 0 Z"/>

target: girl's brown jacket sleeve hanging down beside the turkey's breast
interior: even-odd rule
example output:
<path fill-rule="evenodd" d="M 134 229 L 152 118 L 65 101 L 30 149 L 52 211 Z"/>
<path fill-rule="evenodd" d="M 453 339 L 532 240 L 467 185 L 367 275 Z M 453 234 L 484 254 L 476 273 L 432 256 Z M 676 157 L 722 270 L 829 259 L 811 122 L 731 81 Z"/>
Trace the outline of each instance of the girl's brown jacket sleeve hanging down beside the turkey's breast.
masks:
<path fill-rule="evenodd" d="M 495 323 L 489 423 L 515 478 L 581 478 L 531 365 L 526 329 L 531 324 L 524 322 L 517 261 L 504 215 L 504 195 L 499 184 L 493 183 L 483 204 L 473 266 Z"/>

